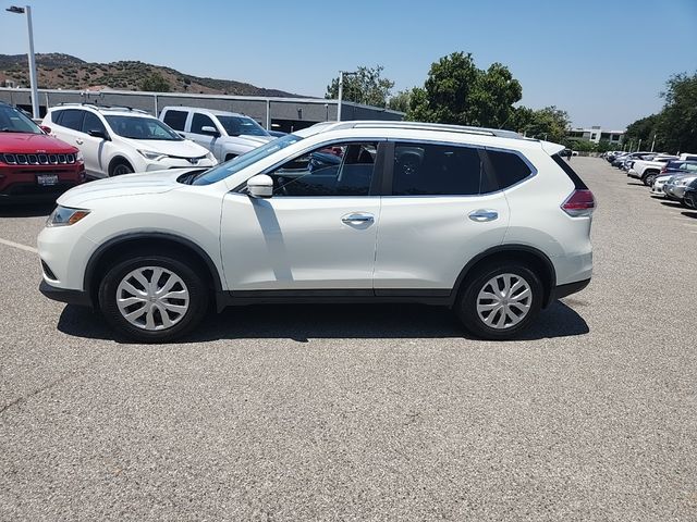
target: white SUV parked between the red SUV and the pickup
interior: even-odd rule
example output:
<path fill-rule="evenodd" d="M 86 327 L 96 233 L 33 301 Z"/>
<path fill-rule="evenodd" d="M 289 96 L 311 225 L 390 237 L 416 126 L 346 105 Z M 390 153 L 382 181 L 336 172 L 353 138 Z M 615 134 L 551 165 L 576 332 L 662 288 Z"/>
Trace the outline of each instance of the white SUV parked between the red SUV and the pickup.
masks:
<path fill-rule="evenodd" d="M 63 104 L 49 109 L 42 125 L 81 150 L 90 177 L 218 163 L 204 147 L 134 109 Z"/>

